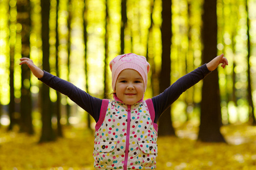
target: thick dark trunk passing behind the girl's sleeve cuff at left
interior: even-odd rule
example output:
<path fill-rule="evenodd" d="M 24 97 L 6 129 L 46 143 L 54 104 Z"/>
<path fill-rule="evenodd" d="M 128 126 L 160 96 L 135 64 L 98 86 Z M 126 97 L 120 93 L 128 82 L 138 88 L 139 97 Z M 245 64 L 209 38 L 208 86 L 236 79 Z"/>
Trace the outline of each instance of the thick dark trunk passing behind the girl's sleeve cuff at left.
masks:
<path fill-rule="evenodd" d="M 49 13 L 50 0 L 41 1 L 41 37 L 43 49 L 43 70 L 50 71 L 49 66 Z M 41 88 L 41 119 L 42 129 L 39 142 L 48 142 L 55 140 L 55 134 L 52 129 L 52 102 L 49 96 L 49 87 L 43 84 Z"/>

